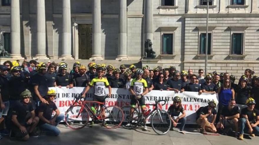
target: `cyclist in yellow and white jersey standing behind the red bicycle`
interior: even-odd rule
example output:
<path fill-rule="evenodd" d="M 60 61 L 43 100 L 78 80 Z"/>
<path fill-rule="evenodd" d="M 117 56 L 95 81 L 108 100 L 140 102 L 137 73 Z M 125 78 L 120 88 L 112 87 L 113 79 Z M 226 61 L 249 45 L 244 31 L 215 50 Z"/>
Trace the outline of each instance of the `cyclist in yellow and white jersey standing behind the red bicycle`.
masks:
<path fill-rule="evenodd" d="M 89 86 L 87 86 L 84 91 L 82 92 L 82 98 L 85 97 L 85 93 L 87 93 L 87 91 L 90 89 L 90 87 L 94 87 L 94 101 L 98 101 L 98 102 L 102 102 L 104 103 L 105 101 L 105 87 L 109 88 L 109 94 L 108 96 L 111 97 L 111 93 L 112 93 L 112 88 L 107 80 L 107 78 L 103 77 L 104 74 L 104 67 L 97 67 L 97 77 L 93 78 L 91 80 L 91 82 L 89 83 Z M 103 109 L 103 105 L 100 105 L 101 107 L 101 115 L 104 116 L 105 115 L 105 111 Z M 93 106 L 91 108 L 91 110 L 93 112 L 96 112 L 96 104 L 93 103 Z M 93 125 L 93 122 L 91 122 L 90 124 L 91 126 Z"/>

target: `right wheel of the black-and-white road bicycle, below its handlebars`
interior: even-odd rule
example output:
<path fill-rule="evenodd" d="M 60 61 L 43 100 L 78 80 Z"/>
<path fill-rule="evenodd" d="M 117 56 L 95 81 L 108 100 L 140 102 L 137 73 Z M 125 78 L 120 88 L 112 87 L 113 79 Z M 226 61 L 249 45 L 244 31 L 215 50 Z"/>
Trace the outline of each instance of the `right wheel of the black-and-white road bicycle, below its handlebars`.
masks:
<path fill-rule="evenodd" d="M 166 134 L 172 125 L 170 115 L 165 110 L 155 111 L 151 118 L 151 125 L 157 134 Z"/>

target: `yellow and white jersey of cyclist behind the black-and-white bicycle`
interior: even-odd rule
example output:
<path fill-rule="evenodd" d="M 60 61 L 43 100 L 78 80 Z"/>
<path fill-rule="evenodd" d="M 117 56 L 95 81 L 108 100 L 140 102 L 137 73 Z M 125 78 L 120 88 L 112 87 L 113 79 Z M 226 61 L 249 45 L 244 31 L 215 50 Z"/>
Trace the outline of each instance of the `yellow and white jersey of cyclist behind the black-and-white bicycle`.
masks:
<path fill-rule="evenodd" d="M 143 93 L 144 88 L 147 88 L 147 82 L 145 79 L 137 80 L 136 78 L 131 81 L 131 87 L 134 93 L 140 95 Z"/>

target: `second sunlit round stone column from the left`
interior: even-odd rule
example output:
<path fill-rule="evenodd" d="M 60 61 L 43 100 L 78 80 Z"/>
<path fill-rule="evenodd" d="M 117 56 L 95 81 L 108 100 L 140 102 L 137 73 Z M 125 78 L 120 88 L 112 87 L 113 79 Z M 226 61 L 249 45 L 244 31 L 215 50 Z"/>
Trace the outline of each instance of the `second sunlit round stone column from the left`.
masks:
<path fill-rule="evenodd" d="M 37 0 L 37 54 L 36 54 L 36 58 L 47 59 L 47 56 L 46 56 L 45 0 Z"/>

